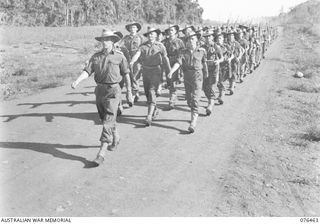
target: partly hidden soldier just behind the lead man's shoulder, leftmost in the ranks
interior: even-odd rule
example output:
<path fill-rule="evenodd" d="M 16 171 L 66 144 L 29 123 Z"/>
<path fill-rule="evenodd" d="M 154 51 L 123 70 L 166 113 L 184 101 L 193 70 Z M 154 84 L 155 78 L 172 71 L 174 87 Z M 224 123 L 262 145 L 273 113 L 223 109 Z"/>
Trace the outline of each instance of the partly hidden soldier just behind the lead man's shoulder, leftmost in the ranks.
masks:
<path fill-rule="evenodd" d="M 125 26 L 126 30 L 130 32 L 129 35 L 124 36 L 124 38 L 119 43 L 120 46 L 124 45 L 130 53 L 130 57 L 138 51 L 139 47 L 143 42 L 145 42 L 145 38 L 139 34 L 141 30 L 140 23 L 133 22 L 127 24 Z M 134 102 L 139 101 L 139 79 L 141 77 L 141 64 L 137 61 L 130 67 L 130 77 L 131 77 L 131 85 L 132 85 L 132 94 L 134 97 Z M 132 106 L 132 103 L 129 102 L 129 106 Z"/>

